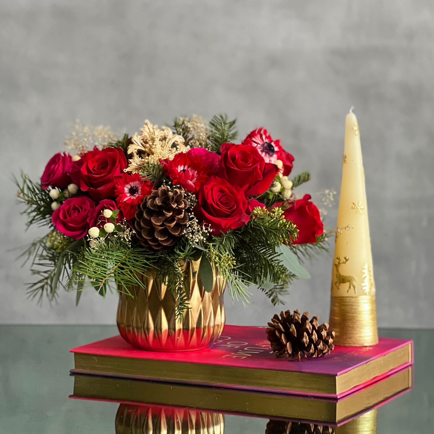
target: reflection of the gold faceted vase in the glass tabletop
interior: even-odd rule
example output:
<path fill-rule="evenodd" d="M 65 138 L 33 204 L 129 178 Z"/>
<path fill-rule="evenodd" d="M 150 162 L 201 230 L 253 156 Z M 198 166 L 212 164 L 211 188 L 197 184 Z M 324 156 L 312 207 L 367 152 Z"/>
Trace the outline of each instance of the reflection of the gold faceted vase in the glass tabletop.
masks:
<path fill-rule="evenodd" d="M 224 415 L 160 405 L 120 404 L 116 434 L 223 434 Z"/>

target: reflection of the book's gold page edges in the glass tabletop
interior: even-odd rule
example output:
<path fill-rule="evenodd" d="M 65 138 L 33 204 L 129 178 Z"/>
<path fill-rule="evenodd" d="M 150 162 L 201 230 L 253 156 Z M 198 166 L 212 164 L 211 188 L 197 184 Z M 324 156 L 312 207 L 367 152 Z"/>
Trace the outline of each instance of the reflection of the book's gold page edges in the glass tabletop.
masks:
<path fill-rule="evenodd" d="M 340 400 L 76 375 L 74 397 L 339 423 L 411 387 L 411 367 Z M 210 399 L 212 396 L 212 399 Z"/>

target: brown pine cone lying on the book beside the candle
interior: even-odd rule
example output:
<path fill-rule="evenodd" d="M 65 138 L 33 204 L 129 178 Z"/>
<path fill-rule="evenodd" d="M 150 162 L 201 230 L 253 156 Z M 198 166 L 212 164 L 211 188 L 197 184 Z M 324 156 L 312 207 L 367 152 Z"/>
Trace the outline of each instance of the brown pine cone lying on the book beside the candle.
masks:
<path fill-rule="evenodd" d="M 280 318 L 274 315 L 266 329 L 267 339 L 271 349 L 277 357 L 286 355 L 286 359 L 301 357 L 321 357 L 329 354 L 335 347 L 333 339 L 335 332 L 329 331 L 328 324 L 318 325 L 318 317 L 313 316 L 309 321 L 309 312 L 304 312 L 300 318 L 300 311 L 280 312 Z"/>

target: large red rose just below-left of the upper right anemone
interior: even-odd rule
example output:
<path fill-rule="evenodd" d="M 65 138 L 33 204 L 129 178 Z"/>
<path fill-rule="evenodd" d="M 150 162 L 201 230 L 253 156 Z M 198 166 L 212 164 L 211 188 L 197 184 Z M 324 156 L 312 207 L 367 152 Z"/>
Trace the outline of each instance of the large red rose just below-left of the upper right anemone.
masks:
<path fill-rule="evenodd" d="M 220 151 L 220 176 L 225 175 L 231 184 L 244 187 L 246 195 L 257 196 L 270 188 L 278 168 L 266 163 L 255 147 L 224 143 Z"/>

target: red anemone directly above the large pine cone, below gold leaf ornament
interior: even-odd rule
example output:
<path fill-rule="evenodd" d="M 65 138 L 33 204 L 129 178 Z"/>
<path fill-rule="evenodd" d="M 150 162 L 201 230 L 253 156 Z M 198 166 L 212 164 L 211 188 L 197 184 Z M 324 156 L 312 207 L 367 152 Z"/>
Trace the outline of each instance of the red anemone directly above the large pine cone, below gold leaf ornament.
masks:
<path fill-rule="evenodd" d="M 184 152 L 176 154 L 173 160 L 166 158 L 160 160 L 174 184 L 179 184 L 187 191 L 197 193 L 208 181 L 210 167 L 199 157 L 194 157 Z"/>

